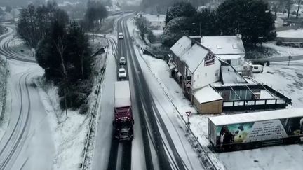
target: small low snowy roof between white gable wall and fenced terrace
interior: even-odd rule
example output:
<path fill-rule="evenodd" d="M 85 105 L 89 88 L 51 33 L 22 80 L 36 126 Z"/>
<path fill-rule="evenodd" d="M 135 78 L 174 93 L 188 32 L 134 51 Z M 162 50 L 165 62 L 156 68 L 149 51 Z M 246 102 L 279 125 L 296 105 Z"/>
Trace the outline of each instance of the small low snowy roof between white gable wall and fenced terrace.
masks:
<path fill-rule="evenodd" d="M 232 67 L 221 66 L 223 84 L 247 83 L 246 80 Z"/>

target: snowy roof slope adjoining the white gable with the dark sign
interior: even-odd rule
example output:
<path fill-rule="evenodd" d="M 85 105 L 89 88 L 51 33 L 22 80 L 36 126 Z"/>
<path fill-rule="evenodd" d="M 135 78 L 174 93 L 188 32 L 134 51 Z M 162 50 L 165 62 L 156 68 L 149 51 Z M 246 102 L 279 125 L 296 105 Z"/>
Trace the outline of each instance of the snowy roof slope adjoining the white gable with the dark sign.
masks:
<path fill-rule="evenodd" d="M 194 44 L 187 52 L 180 57 L 180 59 L 187 64 L 187 68 L 191 73 L 194 73 L 199 64 L 203 61 L 204 57 L 210 52 L 201 45 Z"/>

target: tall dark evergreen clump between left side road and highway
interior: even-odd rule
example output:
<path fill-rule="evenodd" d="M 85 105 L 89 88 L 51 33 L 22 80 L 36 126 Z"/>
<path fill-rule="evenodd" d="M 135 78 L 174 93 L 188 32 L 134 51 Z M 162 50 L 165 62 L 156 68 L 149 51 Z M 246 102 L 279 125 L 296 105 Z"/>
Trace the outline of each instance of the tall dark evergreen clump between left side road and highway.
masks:
<path fill-rule="evenodd" d="M 59 86 L 60 106 L 86 105 L 90 93 L 90 57 L 88 37 L 76 22 L 69 27 L 55 21 L 36 49 L 36 60 L 45 69 L 47 80 Z M 83 107 L 83 106 L 82 106 Z"/>

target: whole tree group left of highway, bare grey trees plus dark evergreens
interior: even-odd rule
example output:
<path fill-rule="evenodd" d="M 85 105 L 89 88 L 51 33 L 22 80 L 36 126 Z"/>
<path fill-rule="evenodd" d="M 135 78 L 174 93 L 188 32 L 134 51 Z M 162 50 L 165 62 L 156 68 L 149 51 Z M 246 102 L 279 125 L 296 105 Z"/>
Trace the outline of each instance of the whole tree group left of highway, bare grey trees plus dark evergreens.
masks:
<path fill-rule="evenodd" d="M 46 80 L 58 85 L 61 108 L 81 108 L 86 113 L 91 92 L 91 49 L 83 29 L 70 22 L 65 10 L 54 2 L 27 6 L 20 13 L 18 34 L 36 48 L 36 61 Z"/>

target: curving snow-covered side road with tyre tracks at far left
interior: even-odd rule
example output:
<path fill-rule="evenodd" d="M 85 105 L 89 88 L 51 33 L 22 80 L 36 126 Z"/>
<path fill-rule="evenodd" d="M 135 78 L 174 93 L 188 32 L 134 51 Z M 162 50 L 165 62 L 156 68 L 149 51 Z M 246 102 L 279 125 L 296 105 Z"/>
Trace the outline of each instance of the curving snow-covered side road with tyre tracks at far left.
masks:
<path fill-rule="evenodd" d="M 13 29 L 0 38 L 0 54 L 8 58 L 8 127 L 0 141 L 0 169 L 53 169 L 53 139 L 38 89 L 32 82 L 43 70 L 34 58 L 9 48 Z M 43 154 L 41 154 L 43 153 Z"/>

